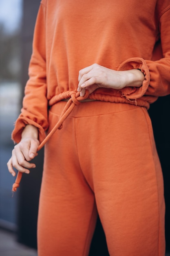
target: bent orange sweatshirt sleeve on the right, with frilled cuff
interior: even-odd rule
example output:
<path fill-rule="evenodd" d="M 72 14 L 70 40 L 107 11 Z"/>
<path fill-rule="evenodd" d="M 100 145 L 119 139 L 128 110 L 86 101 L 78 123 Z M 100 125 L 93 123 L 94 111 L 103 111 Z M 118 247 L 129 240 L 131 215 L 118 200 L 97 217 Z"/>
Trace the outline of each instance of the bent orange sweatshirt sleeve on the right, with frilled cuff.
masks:
<path fill-rule="evenodd" d="M 139 69 L 145 80 L 140 88 L 126 87 L 121 93 L 127 99 L 139 99 L 144 95 L 155 97 L 170 94 L 170 4 L 160 13 L 159 31 L 163 58 L 157 61 L 130 58 L 118 70 Z"/>

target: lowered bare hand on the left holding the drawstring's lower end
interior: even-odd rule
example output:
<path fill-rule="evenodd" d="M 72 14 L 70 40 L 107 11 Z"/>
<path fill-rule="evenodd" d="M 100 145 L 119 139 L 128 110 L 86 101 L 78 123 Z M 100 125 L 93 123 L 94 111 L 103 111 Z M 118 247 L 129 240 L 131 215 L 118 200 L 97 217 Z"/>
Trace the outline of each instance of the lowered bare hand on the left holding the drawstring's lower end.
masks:
<path fill-rule="evenodd" d="M 13 168 L 22 173 L 29 173 L 29 168 L 35 168 L 35 164 L 30 163 L 36 155 L 40 142 L 38 140 L 38 129 L 35 126 L 27 125 L 22 132 L 21 141 L 14 146 L 12 156 L 7 166 L 9 172 L 15 176 Z"/>

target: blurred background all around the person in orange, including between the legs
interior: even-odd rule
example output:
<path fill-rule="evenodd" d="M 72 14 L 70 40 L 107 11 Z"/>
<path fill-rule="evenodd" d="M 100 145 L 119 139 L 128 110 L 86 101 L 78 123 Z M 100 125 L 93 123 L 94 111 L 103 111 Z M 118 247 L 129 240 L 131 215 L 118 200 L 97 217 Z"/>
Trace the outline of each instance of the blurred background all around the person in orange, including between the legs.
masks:
<path fill-rule="evenodd" d="M 7 171 L 13 141 L 11 132 L 22 104 L 32 38 L 40 0 L 0 0 L 0 255 L 37 255 L 36 223 L 42 177 L 43 150 L 36 170 L 23 175 L 12 196 L 15 181 Z M 163 168 L 166 200 L 166 250 L 170 252 L 170 96 L 150 107 L 157 150 Z M 9 243 L 9 239 L 12 240 Z M 5 241 L 8 243 L 5 244 Z M 10 247 L 11 246 L 11 247 Z M 12 254 L 10 254 L 10 251 Z M 91 256 L 107 256 L 106 240 L 97 221 Z"/>

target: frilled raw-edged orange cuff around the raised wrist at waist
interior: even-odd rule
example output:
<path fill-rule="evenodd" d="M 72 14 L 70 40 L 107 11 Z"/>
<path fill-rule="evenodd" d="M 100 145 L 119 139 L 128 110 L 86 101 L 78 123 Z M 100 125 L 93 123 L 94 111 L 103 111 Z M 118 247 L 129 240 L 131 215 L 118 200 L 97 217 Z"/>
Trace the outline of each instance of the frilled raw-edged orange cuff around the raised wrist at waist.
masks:
<path fill-rule="evenodd" d="M 141 87 L 124 87 L 121 89 L 122 96 L 126 97 L 128 100 L 136 100 L 141 98 L 148 89 L 150 83 L 150 73 L 148 66 L 143 58 L 129 58 L 128 60 L 121 63 L 118 67 L 118 71 L 139 69 L 145 76 L 145 80 Z"/>

